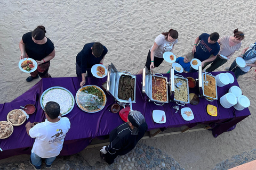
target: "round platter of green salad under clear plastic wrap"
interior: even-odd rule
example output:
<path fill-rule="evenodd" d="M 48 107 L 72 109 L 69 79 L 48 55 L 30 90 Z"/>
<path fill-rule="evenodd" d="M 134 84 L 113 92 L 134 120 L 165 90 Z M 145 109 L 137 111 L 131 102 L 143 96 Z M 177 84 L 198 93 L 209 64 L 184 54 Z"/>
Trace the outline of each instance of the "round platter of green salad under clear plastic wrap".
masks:
<path fill-rule="evenodd" d="M 83 86 L 76 92 L 76 104 L 84 112 L 99 112 L 105 107 L 106 102 L 105 92 L 98 86 Z"/>

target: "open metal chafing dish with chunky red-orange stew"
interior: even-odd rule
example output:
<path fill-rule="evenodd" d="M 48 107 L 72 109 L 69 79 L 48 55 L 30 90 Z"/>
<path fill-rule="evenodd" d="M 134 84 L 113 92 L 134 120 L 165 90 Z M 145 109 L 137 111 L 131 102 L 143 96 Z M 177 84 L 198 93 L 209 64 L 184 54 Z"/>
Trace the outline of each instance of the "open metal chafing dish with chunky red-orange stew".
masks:
<path fill-rule="evenodd" d="M 146 96 L 148 97 L 149 101 L 154 101 L 154 103 L 156 105 L 159 105 L 159 106 L 163 106 L 164 103 L 169 103 L 169 100 L 168 100 L 168 80 L 166 77 L 163 77 L 162 74 L 154 74 L 155 78 L 163 78 L 165 79 L 166 81 L 166 101 L 161 101 L 161 100 L 154 100 L 153 99 L 153 92 L 152 92 L 152 79 L 153 78 L 153 74 L 150 73 L 150 71 L 147 69 L 147 67 L 144 67 L 143 68 L 143 79 L 142 79 L 142 92 L 144 94 L 146 94 Z M 158 104 L 159 103 L 159 104 Z"/>

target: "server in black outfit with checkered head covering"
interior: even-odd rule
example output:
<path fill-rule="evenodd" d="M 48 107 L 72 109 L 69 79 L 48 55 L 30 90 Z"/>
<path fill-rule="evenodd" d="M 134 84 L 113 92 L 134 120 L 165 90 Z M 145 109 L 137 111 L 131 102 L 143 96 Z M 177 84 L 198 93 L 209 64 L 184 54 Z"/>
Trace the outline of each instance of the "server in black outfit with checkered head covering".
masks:
<path fill-rule="evenodd" d="M 112 164 L 118 155 L 125 155 L 135 148 L 147 130 L 145 117 L 138 111 L 131 111 L 127 122 L 110 132 L 110 144 L 100 150 L 101 158 Z"/>

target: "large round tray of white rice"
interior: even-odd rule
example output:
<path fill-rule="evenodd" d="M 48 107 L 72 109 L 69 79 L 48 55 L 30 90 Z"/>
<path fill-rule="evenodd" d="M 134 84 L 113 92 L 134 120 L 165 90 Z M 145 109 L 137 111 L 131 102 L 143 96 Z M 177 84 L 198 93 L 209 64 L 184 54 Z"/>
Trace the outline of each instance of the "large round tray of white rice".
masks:
<path fill-rule="evenodd" d="M 71 112 L 75 106 L 75 99 L 71 92 L 59 86 L 51 87 L 43 92 L 40 98 L 40 104 L 43 109 L 48 101 L 55 101 L 60 105 L 62 116 Z"/>

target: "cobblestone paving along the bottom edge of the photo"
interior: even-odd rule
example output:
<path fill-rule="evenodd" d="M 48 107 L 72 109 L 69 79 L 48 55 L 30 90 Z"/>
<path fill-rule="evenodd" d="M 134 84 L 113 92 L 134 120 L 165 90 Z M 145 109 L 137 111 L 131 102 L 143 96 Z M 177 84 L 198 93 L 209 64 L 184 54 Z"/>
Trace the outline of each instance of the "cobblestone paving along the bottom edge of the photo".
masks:
<path fill-rule="evenodd" d="M 256 149 L 249 152 L 243 152 L 242 154 L 231 157 L 231 159 L 223 160 L 218 163 L 212 170 L 224 170 L 229 169 L 244 163 L 250 162 L 256 159 Z M 0 164 L 0 170 L 25 170 L 34 168 L 29 164 L 28 160 L 17 163 L 4 163 Z M 43 163 L 42 169 L 45 168 Z M 138 143 L 137 146 L 128 154 L 118 156 L 115 162 L 108 165 L 104 160 L 97 161 L 94 165 L 83 159 L 78 153 L 71 156 L 58 156 L 53 162 L 52 168 L 54 170 L 117 170 L 117 169 L 156 169 L 156 170 L 185 170 L 180 166 L 178 162 L 174 160 L 172 156 L 169 156 L 162 152 L 160 149 L 146 146 L 142 143 Z"/>

